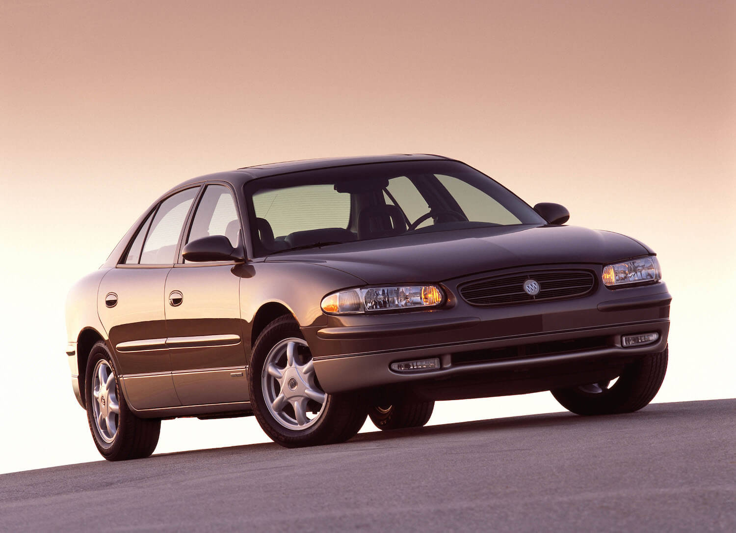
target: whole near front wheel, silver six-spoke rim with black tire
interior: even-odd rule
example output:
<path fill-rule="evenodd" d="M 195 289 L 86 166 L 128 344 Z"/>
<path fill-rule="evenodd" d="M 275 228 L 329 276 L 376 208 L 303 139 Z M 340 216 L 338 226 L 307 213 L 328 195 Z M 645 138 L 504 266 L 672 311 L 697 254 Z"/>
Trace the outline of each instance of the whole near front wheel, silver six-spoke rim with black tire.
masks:
<path fill-rule="evenodd" d="M 291 316 L 277 318 L 258 335 L 248 384 L 255 418 L 285 447 L 344 442 L 367 417 L 358 395 L 322 391 L 309 346 Z"/>

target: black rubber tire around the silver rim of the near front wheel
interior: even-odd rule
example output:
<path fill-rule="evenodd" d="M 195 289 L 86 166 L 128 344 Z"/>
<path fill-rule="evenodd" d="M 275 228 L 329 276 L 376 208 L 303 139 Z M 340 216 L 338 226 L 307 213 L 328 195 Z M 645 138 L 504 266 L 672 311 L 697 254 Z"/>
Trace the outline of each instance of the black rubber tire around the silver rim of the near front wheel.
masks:
<path fill-rule="evenodd" d="M 355 436 L 367 417 L 365 402 L 359 394 L 327 394 L 319 419 L 303 430 L 286 428 L 269 411 L 263 394 L 263 366 L 272 348 L 288 338 L 304 337 L 294 318 L 282 316 L 266 326 L 253 345 L 248 369 L 248 385 L 250 403 L 258 424 L 266 435 L 284 447 L 333 444 Z M 319 383 L 317 385 L 319 386 Z"/>

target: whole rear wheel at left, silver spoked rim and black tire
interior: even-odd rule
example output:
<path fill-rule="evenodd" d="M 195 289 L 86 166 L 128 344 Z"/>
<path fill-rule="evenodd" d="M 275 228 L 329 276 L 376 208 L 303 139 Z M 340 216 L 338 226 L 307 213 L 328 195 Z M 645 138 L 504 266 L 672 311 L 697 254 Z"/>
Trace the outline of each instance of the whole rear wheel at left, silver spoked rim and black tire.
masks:
<path fill-rule="evenodd" d="M 103 341 L 92 346 L 87 360 L 85 403 L 94 443 L 108 461 L 141 459 L 156 449 L 161 421 L 138 418 L 130 411 Z"/>

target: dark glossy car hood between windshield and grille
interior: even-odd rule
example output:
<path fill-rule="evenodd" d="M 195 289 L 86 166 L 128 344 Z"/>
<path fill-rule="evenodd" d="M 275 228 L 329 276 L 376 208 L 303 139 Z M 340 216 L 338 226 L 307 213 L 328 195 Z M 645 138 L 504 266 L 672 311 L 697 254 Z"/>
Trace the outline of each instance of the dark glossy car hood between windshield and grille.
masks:
<path fill-rule="evenodd" d="M 611 263 L 653 253 L 630 237 L 576 226 L 498 226 L 434 231 L 284 251 L 266 262 L 322 264 L 369 284 L 439 282 L 499 268 Z"/>

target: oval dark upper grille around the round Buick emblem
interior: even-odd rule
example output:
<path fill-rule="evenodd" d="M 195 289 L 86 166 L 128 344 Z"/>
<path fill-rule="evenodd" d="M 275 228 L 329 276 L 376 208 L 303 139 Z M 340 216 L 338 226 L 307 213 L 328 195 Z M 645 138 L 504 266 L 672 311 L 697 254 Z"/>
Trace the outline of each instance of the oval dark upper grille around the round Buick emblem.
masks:
<path fill-rule="evenodd" d="M 524 282 L 528 279 L 539 283 L 539 293 L 535 296 L 524 290 Z M 467 282 L 459 290 L 467 303 L 490 306 L 577 298 L 590 293 L 594 287 L 595 275 L 591 271 L 560 270 L 503 274 Z"/>

